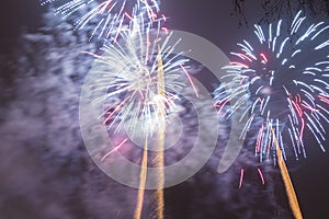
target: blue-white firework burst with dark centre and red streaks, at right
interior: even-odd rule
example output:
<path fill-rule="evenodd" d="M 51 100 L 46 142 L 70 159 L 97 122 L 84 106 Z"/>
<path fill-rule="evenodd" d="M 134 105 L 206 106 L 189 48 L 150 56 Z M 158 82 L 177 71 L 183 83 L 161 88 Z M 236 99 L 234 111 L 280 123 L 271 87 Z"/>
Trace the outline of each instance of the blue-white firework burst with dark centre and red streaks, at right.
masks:
<path fill-rule="evenodd" d="M 250 117 L 241 136 L 257 136 L 254 150 L 261 161 L 272 154 L 276 162 L 274 137 L 285 160 L 287 151 L 296 159 L 306 157 L 304 136 L 309 134 L 325 151 L 329 25 L 319 22 L 305 28 L 306 19 L 300 14 L 287 28 L 282 20 L 266 28 L 254 25 L 257 37 L 238 44 L 241 50 L 231 53 L 235 61 L 225 67 L 231 80 L 216 91 L 219 111 L 236 100 L 226 111 L 227 117 L 248 105 L 243 116 Z"/>

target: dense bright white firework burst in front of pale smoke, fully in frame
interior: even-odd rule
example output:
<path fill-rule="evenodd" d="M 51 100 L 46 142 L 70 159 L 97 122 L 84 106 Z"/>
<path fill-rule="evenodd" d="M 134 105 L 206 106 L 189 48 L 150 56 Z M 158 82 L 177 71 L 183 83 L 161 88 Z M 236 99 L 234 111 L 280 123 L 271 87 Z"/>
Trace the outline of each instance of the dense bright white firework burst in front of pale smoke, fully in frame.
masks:
<path fill-rule="evenodd" d="M 116 43 L 105 44 L 102 55 L 92 54 L 98 89 L 109 91 L 94 100 L 105 100 L 107 106 L 101 116 L 109 129 L 114 126 L 116 131 L 143 129 L 144 135 L 148 135 L 162 126 L 166 115 L 174 111 L 179 90 L 184 87 L 181 76 L 188 73 L 184 67 L 188 59 L 181 58 L 182 54 L 172 55 L 174 46 L 167 47 L 171 34 L 151 25 L 136 15 L 129 27 L 120 33 Z M 161 69 L 159 60 L 163 60 Z M 164 72 L 164 81 L 158 78 L 159 70 Z M 164 84 L 161 95 L 160 83 Z M 113 103 L 112 97 L 122 101 Z"/>

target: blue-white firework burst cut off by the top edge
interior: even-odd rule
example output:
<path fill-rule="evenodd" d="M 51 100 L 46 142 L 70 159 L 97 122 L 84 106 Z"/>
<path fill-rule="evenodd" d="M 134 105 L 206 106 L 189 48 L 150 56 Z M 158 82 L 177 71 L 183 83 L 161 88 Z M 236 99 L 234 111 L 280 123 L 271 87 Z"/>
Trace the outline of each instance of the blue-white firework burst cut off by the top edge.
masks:
<path fill-rule="evenodd" d="M 53 3 L 55 14 L 72 21 L 76 30 L 92 30 L 91 38 L 116 36 L 136 11 L 149 21 L 166 20 L 158 15 L 159 0 L 42 0 L 42 5 L 47 3 Z"/>

